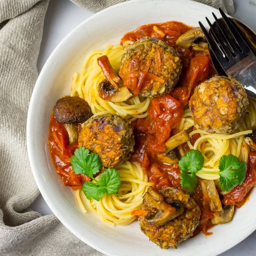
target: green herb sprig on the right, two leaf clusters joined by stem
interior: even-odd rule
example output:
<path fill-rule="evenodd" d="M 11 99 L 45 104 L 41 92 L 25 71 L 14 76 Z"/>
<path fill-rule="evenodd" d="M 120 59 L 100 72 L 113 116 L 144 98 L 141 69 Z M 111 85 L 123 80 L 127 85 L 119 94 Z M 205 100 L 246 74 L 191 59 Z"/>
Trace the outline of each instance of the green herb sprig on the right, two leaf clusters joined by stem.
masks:
<path fill-rule="evenodd" d="M 219 172 L 205 172 L 202 171 L 204 158 L 199 150 L 191 149 L 186 155 L 183 155 L 179 161 L 181 169 L 181 185 L 182 188 L 188 189 L 188 193 L 192 194 L 198 179 L 195 173 L 219 174 L 220 175 L 220 188 L 222 191 L 227 192 L 241 185 L 245 179 L 247 165 L 240 162 L 235 155 L 223 155 L 219 162 Z"/>

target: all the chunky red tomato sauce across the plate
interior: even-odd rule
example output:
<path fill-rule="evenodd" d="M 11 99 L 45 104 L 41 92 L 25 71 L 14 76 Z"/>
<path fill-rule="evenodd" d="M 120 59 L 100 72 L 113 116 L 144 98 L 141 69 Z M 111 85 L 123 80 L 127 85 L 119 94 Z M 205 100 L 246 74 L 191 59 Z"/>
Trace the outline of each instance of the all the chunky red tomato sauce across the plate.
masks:
<path fill-rule="evenodd" d="M 177 21 L 149 24 L 125 34 L 121 39 L 121 44 L 126 40 L 135 41 L 145 36 L 153 36 L 175 47 L 177 38 L 189 29 L 191 27 Z M 193 93 L 195 86 L 215 75 L 208 52 L 194 53 L 188 48 L 181 47 L 176 47 L 176 49 L 182 58 L 182 74 L 174 91 L 171 94 L 153 98 L 148 107 L 149 117 L 133 122 L 135 151 L 130 160 L 141 165 L 144 171 L 148 173 L 148 180 L 155 183 L 156 189 L 162 189 L 166 186 L 182 189 L 178 164 L 163 163 L 158 160 L 157 155 L 165 151 L 165 141 L 169 136 L 178 132 L 176 127 L 181 121 L 183 108 L 188 103 L 189 96 Z M 195 143 L 197 136 L 191 138 L 192 144 Z M 67 131 L 63 124 L 55 121 L 54 116 L 51 118 L 48 145 L 54 167 L 64 185 L 77 189 L 81 187 L 84 181 L 89 180 L 85 175 L 74 174 L 70 157 L 77 148 L 77 142 L 68 145 Z M 189 148 L 184 146 L 184 150 L 188 151 Z M 237 186 L 223 196 L 224 203 L 240 207 L 255 185 L 256 152 L 251 152 L 245 181 L 241 186 Z M 213 225 L 209 220 L 214 216 L 209 208 L 209 198 L 202 194 L 200 184 L 196 187 L 192 197 L 202 212 L 200 224 L 194 235 L 200 232 L 210 235 L 211 233 L 207 230 Z"/>

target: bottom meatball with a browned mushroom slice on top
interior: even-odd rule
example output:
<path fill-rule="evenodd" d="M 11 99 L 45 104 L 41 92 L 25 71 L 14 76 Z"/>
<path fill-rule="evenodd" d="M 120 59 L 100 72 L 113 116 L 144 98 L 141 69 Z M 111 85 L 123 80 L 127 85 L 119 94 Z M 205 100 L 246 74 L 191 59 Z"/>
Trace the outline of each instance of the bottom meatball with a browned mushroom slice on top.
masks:
<path fill-rule="evenodd" d="M 149 187 L 143 197 L 142 209 L 147 216 L 139 217 L 141 231 L 162 249 L 177 245 L 193 235 L 201 211 L 193 198 L 181 189 Z"/>

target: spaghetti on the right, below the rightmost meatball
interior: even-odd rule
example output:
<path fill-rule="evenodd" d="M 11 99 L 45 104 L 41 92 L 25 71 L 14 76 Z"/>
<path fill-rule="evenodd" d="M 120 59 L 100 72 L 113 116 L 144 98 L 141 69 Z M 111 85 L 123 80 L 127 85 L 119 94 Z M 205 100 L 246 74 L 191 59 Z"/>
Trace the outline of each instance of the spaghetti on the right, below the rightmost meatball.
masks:
<path fill-rule="evenodd" d="M 243 123 L 238 132 L 231 135 L 228 134 L 213 134 L 200 129 L 197 125 L 194 126 L 194 120 L 189 109 L 186 109 L 182 116 L 182 121 L 179 125 L 181 131 L 188 130 L 194 127 L 194 130 L 189 133 L 199 135 L 199 138 L 192 145 L 187 142 L 190 149 L 198 149 L 204 157 L 202 171 L 205 173 L 197 173 L 196 175 L 202 179 L 216 180 L 219 179 L 218 174 L 211 172 L 219 171 L 218 165 L 222 155 L 235 155 L 240 161 L 247 162 L 249 154 L 249 146 L 243 140 L 243 135 L 252 133 L 249 128 L 255 126 L 256 118 L 256 101 L 249 99 L 249 114 L 245 115 Z M 178 147 L 180 155 L 184 155 L 182 146 Z"/>

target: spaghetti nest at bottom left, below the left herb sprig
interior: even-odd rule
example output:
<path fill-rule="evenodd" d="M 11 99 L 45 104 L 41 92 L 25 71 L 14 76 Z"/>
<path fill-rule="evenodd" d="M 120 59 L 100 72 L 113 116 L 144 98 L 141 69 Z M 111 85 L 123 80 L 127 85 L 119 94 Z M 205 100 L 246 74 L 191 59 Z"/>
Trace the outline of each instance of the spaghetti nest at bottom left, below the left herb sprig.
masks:
<path fill-rule="evenodd" d="M 98 202 L 88 200 L 82 189 L 75 192 L 76 200 L 83 213 L 94 212 L 101 220 L 110 225 L 128 225 L 135 220 L 131 215 L 134 209 L 142 206 L 142 196 L 152 183 L 148 182 L 148 176 L 137 163 L 124 162 L 116 167 L 120 174 L 121 187 L 118 195 L 103 195 Z"/>

